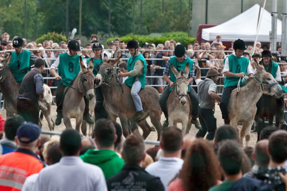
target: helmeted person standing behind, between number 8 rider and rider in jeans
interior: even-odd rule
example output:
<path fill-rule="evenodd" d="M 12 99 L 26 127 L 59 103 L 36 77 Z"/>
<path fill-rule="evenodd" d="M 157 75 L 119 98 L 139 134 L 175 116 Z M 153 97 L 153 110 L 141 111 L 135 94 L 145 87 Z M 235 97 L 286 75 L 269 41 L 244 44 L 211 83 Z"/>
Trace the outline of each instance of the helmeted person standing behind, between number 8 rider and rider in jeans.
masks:
<path fill-rule="evenodd" d="M 95 42 L 93 44 L 92 50 L 95 54 L 94 56 L 94 69 L 93 69 L 93 74 L 94 76 L 97 75 L 98 73 L 98 66 L 104 62 L 102 59 L 102 45 L 99 42 Z M 90 58 L 87 59 L 87 65 L 89 65 Z M 95 88 L 96 92 L 96 106 L 95 106 L 95 121 L 101 118 L 106 118 L 108 119 L 108 114 L 103 106 L 104 103 L 104 97 L 102 94 L 102 87 L 97 87 Z"/>

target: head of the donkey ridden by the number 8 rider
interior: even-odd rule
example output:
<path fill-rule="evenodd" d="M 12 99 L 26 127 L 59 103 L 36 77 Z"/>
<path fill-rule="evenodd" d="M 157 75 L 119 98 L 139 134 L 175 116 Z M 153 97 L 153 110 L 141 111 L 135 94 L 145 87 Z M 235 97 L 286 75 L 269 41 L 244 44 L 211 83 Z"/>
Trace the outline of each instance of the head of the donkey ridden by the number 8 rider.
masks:
<path fill-rule="evenodd" d="M 86 93 L 87 96 L 89 97 L 89 99 L 91 100 L 95 94 L 94 94 L 94 75 L 93 75 L 93 63 L 89 63 L 89 67 L 86 68 L 84 63 L 83 63 L 83 60 L 82 60 L 82 57 L 80 56 L 80 66 L 81 66 L 81 69 L 82 69 L 82 74 L 80 74 L 80 83 L 79 84 L 82 84 L 80 85 L 80 90 L 82 89 L 82 92 L 83 93 Z"/>

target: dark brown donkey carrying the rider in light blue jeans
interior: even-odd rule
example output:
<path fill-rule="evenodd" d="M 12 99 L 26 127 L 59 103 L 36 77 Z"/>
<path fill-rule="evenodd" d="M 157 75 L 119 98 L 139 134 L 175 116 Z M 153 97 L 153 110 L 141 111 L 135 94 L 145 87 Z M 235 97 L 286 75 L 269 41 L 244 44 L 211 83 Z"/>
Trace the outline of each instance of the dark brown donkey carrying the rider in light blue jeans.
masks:
<path fill-rule="evenodd" d="M 120 57 L 115 60 L 106 60 L 99 66 L 99 72 L 96 75 L 96 87 L 102 86 L 104 96 L 104 107 L 108 113 L 109 119 L 116 121 L 119 117 L 122 124 L 123 135 L 127 137 L 130 132 L 128 129 L 128 120 L 131 121 L 131 131 L 137 130 L 136 123 L 142 128 L 143 138 L 146 139 L 153 130 L 148 125 L 146 119 L 140 122 L 133 122 L 132 118 L 136 114 L 136 109 L 131 97 L 131 88 L 126 84 L 120 84 L 116 81 L 116 75 L 113 73 L 113 66 L 119 61 Z M 153 87 L 145 87 L 139 91 L 142 100 L 142 107 L 146 116 L 150 116 L 151 123 L 157 131 L 157 140 L 160 137 L 160 117 L 162 110 L 159 106 L 159 93 Z"/>

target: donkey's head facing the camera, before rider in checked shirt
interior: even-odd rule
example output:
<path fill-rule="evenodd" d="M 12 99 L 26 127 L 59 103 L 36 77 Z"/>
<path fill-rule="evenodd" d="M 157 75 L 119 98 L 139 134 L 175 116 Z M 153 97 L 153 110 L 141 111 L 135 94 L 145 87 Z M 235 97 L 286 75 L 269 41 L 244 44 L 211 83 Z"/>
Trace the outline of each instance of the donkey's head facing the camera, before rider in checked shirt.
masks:
<path fill-rule="evenodd" d="M 188 72 L 189 72 L 189 63 L 186 63 L 185 71 L 181 70 L 180 72 L 174 68 L 171 64 L 171 70 L 177 78 L 176 85 L 175 85 L 175 93 L 176 96 L 179 98 L 180 103 L 184 105 L 187 101 L 187 93 L 188 93 Z"/>

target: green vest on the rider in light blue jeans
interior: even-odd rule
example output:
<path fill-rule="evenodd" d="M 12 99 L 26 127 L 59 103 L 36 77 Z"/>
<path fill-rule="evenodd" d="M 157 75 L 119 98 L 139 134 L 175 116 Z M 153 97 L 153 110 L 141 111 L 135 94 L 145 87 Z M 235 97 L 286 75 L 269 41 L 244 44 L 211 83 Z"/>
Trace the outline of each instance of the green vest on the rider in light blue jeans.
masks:
<path fill-rule="evenodd" d="M 131 70 L 133 70 L 134 64 L 136 63 L 136 60 L 142 60 L 144 63 L 144 72 L 142 75 L 140 76 L 129 76 L 124 84 L 127 84 L 129 87 L 133 86 L 133 83 L 136 81 L 136 78 L 139 78 L 139 81 L 142 85 L 142 89 L 145 88 L 145 73 L 147 71 L 147 64 L 145 62 L 145 57 L 143 57 L 143 55 L 141 53 L 139 53 L 139 55 L 137 56 L 131 56 L 128 59 L 128 63 L 127 63 L 127 70 L 128 72 L 130 72 Z"/>

